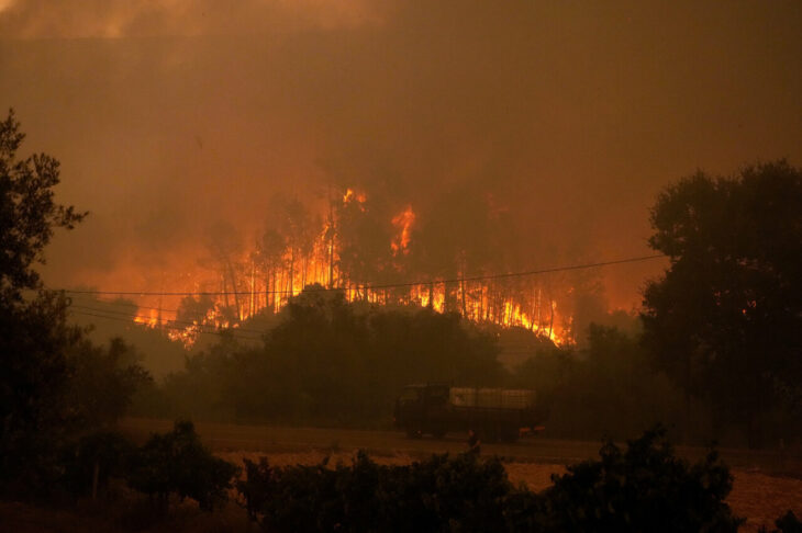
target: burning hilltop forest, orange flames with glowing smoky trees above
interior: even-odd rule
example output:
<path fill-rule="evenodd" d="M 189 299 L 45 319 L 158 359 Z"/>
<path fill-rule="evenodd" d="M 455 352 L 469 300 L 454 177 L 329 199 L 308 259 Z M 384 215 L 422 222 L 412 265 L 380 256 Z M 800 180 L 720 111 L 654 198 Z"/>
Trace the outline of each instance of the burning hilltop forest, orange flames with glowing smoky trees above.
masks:
<path fill-rule="evenodd" d="M 492 231 L 509 231 L 490 206 L 478 217 L 487 240 L 470 250 L 433 240 L 427 234 L 437 227 L 428 227 L 412 204 L 388 215 L 350 188 L 332 194 L 318 212 L 297 199 L 276 204 L 275 224 L 250 238 L 230 224 L 210 226 L 197 266 L 181 271 L 169 291 L 125 294 L 142 306 L 133 320 L 190 347 L 201 331 L 278 313 L 305 287 L 339 291 L 352 303 L 457 313 L 477 324 L 524 328 L 557 344 L 571 342 L 571 316 L 558 307 L 560 295 L 571 292 L 564 277 L 498 275 L 509 266 L 492 250 L 477 251 L 501 238 Z M 82 294 L 74 293 L 79 300 Z"/>

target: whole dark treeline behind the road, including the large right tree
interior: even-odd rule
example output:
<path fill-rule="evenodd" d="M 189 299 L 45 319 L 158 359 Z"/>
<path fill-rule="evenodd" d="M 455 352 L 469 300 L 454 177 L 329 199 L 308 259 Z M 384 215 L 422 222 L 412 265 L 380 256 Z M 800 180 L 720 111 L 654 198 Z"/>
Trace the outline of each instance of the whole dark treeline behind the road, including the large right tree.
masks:
<path fill-rule="evenodd" d="M 535 388 L 553 435 L 662 421 L 687 442 L 789 445 L 801 427 L 800 213 L 802 172 L 784 161 L 666 189 L 650 246 L 671 262 L 646 286 L 643 332 L 591 325 L 581 348 L 312 286 L 261 319 L 272 326 L 257 347 L 232 330 L 138 412 L 386 427 L 401 387 L 428 381 Z M 530 358 L 505 368 L 501 347 L 521 334 Z"/>

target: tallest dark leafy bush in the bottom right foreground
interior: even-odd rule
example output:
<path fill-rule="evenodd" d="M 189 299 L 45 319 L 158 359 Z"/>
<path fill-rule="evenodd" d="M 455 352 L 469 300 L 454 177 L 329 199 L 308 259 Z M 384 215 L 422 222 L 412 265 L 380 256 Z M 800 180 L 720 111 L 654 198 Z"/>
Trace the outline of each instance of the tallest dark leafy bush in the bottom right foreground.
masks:
<path fill-rule="evenodd" d="M 689 466 L 677 458 L 662 428 L 628 441 L 622 452 L 612 441 L 600 461 L 568 467 L 554 486 L 508 500 L 512 531 L 543 532 L 735 532 L 724 498 L 732 489 L 726 466 L 710 452 Z"/>

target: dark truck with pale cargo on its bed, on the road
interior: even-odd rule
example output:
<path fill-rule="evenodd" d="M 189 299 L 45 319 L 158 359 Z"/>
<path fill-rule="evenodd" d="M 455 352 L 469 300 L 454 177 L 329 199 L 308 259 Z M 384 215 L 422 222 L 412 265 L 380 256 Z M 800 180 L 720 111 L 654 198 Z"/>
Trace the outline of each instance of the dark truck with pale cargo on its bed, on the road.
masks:
<path fill-rule="evenodd" d="M 412 439 L 472 429 L 483 441 L 513 442 L 542 429 L 535 398 L 530 389 L 409 385 L 396 400 L 393 423 Z"/>

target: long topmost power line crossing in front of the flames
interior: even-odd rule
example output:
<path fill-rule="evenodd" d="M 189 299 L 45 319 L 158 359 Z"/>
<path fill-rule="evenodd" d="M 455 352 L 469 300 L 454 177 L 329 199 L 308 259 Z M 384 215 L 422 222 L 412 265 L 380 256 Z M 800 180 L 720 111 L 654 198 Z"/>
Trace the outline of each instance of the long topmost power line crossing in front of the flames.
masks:
<path fill-rule="evenodd" d="M 654 256 L 641 256 L 636 258 L 617 259 L 614 261 L 602 261 L 595 263 L 573 264 L 569 266 L 556 266 L 550 269 L 528 270 L 523 272 L 510 272 L 504 274 L 487 274 L 476 275 L 470 277 L 452 277 L 442 280 L 430 280 L 430 281 L 417 281 L 417 282 L 405 282 L 405 283 L 387 283 L 377 285 L 361 285 L 360 288 L 367 291 L 375 291 L 378 288 L 401 288 L 401 287 L 413 287 L 413 286 L 426 286 L 426 285 L 441 285 L 444 283 L 461 283 L 461 282 L 474 282 L 474 281 L 486 281 L 486 280 L 504 280 L 510 277 L 524 277 L 528 275 L 541 275 L 550 274 L 555 272 L 568 272 L 575 270 L 587 270 L 595 269 L 601 266 L 610 266 L 614 264 L 635 263 L 642 261 L 650 261 L 653 259 L 665 258 L 666 256 L 659 253 Z M 305 292 L 334 292 L 344 291 L 343 287 L 307 287 Z M 231 295 L 249 295 L 252 291 L 194 291 L 194 292 L 149 292 L 149 291 L 71 291 L 63 290 L 67 294 L 96 294 L 96 295 L 118 295 L 118 296 L 221 296 L 225 294 Z M 258 291 L 254 294 L 294 294 L 292 290 L 278 290 L 278 291 Z"/>

